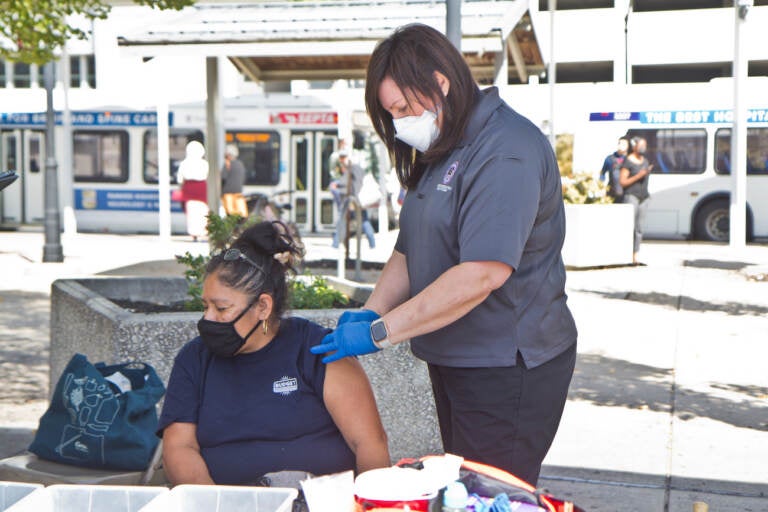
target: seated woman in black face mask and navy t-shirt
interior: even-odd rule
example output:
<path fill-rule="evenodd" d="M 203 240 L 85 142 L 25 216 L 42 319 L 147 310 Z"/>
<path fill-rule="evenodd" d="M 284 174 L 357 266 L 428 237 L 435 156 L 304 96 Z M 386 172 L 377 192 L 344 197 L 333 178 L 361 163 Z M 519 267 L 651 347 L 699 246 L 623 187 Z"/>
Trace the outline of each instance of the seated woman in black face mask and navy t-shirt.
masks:
<path fill-rule="evenodd" d="M 282 318 L 300 249 L 279 222 L 246 229 L 211 258 L 200 336 L 173 364 L 158 432 L 172 484 L 254 484 L 265 473 L 390 465 L 360 363 L 309 349 L 329 329 Z"/>

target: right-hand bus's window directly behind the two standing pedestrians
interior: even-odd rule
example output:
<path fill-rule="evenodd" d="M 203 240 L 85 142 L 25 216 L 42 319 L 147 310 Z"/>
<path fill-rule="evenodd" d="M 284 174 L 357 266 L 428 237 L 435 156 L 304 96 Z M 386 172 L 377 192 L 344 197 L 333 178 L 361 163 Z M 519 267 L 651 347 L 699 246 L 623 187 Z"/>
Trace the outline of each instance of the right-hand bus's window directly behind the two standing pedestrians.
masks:
<path fill-rule="evenodd" d="M 630 130 L 648 142 L 654 174 L 701 174 L 707 162 L 707 132 L 701 129 Z"/>

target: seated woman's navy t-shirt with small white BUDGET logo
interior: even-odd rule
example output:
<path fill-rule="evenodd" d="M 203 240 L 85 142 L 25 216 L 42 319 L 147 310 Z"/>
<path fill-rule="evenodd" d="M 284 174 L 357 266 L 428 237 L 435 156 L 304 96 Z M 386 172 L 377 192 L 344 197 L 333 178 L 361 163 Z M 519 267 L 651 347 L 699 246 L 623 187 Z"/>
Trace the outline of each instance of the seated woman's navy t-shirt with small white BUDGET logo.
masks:
<path fill-rule="evenodd" d="M 269 345 L 232 358 L 213 356 L 195 338 L 174 361 L 159 431 L 195 423 L 217 484 L 252 484 L 272 471 L 354 469 L 354 453 L 323 402 L 322 355 L 309 351 L 328 332 L 284 318 Z"/>

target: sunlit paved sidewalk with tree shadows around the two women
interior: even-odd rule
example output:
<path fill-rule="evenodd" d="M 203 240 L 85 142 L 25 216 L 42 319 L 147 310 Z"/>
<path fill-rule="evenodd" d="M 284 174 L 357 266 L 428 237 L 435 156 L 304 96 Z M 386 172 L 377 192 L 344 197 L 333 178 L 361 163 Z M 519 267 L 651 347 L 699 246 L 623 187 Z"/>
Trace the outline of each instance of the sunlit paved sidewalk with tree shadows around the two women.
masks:
<path fill-rule="evenodd" d="M 305 242 L 309 260 L 338 255 L 330 237 Z M 363 259 L 393 243 L 363 242 Z M 45 410 L 54 279 L 180 275 L 174 255 L 207 250 L 141 235 L 62 244 L 63 263 L 41 263 L 41 232 L 0 232 L 0 456 L 28 445 Z M 579 357 L 540 486 L 590 511 L 768 511 L 768 245 L 648 242 L 641 257 L 569 271 Z"/>

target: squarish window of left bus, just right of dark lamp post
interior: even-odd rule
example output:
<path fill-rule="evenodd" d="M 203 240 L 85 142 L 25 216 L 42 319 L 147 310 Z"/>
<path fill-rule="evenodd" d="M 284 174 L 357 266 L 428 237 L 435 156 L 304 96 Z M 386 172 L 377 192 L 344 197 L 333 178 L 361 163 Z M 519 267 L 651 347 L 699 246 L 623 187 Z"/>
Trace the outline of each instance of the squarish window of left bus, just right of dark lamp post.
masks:
<path fill-rule="evenodd" d="M 128 133 L 87 131 L 72 133 L 75 181 L 128 181 Z"/>

